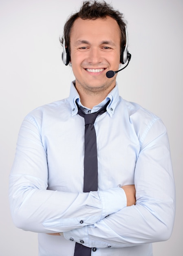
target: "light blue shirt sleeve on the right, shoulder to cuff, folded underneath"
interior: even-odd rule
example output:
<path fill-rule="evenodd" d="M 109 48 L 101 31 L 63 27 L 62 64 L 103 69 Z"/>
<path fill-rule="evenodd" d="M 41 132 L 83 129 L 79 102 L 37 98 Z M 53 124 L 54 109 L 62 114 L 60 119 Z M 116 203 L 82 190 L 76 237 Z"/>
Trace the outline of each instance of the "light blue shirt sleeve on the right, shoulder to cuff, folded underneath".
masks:
<path fill-rule="evenodd" d="M 129 247 L 167 240 L 175 216 L 175 187 L 168 136 L 158 119 L 141 141 L 134 170 L 136 205 L 94 225 L 64 233 L 87 247 Z"/>

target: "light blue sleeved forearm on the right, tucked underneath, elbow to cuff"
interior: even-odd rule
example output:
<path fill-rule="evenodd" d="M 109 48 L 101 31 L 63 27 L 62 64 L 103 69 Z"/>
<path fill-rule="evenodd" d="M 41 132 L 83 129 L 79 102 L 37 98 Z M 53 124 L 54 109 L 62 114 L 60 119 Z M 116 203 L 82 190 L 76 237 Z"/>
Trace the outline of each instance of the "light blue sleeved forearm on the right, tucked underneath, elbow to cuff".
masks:
<path fill-rule="evenodd" d="M 171 190 L 171 189 L 170 189 Z M 103 220 L 82 229 L 64 233 L 87 247 L 128 247 L 159 242 L 170 238 L 174 224 L 174 191 L 172 198 L 155 200 L 139 198 L 136 205 L 125 207 Z"/>

